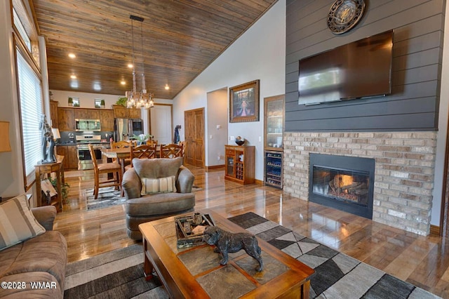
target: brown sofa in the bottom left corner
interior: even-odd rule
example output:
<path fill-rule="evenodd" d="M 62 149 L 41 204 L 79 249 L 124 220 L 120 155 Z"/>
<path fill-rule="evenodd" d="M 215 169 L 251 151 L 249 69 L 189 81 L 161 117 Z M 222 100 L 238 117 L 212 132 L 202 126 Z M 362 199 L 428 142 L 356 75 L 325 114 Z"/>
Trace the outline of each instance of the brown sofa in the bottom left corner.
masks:
<path fill-rule="evenodd" d="M 25 195 L 24 195 L 25 197 Z M 5 218 L 12 215 L 6 207 L 17 199 L 9 199 L 0 204 L 0 240 L 4 244 L 5 229 L 11 230 L 11 225 Z M 27 201 L 25 197 L 25 201 Z M 15 204 L 15 203 L 14 203 Z M 6 245 L 0 251 L 0 298 L 63 298 L 65 266 L 67 264 L 67 242 L 60 232 L 53 231 L 53 220 L 56 215 L 54 206 L 41 206 L 38 208 L 27 208 L 27 204 L 19 201 L 16 206 L 22 205 L 25 212 L 29 213 L 25 220 L 15 216 L 13 221 L 15 227 L 21 225 L 29 226 L 32 223 L 38 231 L 38 235 L 27 237 L 25 241 L 18 244 Z M 20 210 L 21 208 L 19 208 Z M 28 211 L 26 211 L 28 209 Z M 6 211 L 5 211 L 6 210 Z M 12 223 L 12 222 L 11 222 Z M 16 229 L 15 229 L 16 230 Z M 15 231 L 14 230 L 14 231 Z M 19 228 L 19 230 L 21 230 Z M 18 236 L 21 233 L 17 233 Z M 11 236 L 10 236 L 11 237 Z M 13 238 L 14 239 L 14 238 Z M 32 288 L 32 284 L 39 282 L 39 286 Z M 5 288 L 6 286 L 6 288 Z"/>

